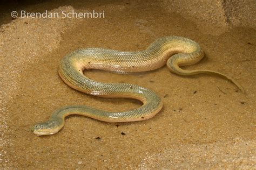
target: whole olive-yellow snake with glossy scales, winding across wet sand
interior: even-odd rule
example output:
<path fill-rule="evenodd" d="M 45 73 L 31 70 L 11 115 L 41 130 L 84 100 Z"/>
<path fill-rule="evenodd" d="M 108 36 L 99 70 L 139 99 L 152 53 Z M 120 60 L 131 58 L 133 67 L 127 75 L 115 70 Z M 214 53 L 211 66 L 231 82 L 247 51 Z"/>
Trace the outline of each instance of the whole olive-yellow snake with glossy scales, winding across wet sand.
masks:
<path fill-rule="evenodd" d="M 143 105 L 134 110 L 110 112 L 86 105 L 72 105 L 55 110 L 49 121 L 32 126 L 38 136 L 57 133 L 63 128 L 68 115 L 83 115 L 104 122 L 143 121 L 156 115 L 163 107 L 161 98 L 154 91 L 127 83 L 103 83 L 89 79 L 85 69 L 102 69 L 116 73 L 136 73 L 154 70 L 165 64 L 171 72 L 179 75 L 199 73 L 218 74 L 233 82 L 242 92 L 242 87 L 230 77 L 212 70 L 184 70 L 179 66 L 192 65 L 204 57 L 204 52 L 195 41 L 183 37 L 163 37 L 154 41 L 144 51 L 124 52 L 104 48 L 77 49 L 64 56 L 58 73 L 70 87 L 86 94 L 100 97 L 135 98 Z"/>

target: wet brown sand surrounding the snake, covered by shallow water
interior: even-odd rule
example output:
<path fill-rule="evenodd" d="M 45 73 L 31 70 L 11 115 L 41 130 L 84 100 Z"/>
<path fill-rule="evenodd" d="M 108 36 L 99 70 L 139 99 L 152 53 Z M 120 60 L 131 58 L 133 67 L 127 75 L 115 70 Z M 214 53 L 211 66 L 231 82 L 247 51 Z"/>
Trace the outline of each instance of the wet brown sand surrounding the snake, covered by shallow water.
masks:
<path fill-rule="evenodd" d="M 104 10 L 101 19 L 11 20 L 11 9 L 4 10 L 1 22 L 5 24 L 0 30 L 1 169 L 256 168 L 255 25 L 243 20 L 247 10 L 237 15 L 230 7 L 228 13 L 213 1 L 210 7 L 201 4 L 205 8 L 198 8 L 199 12 L 195 4 L 184 7 L 186 13 L 180 9 L 184 2 L 16 5 L 18 10 L 30 12 Z M 200 12 L 203 9 L 207 11 Z M 207 17 L 211 11 L 215 18 Z M 221 12 L 225 16 L 221 14 L 218 20 Z M 193 13 L 201 16 L 193 17 Z M 110 111 L 140 105 L 136 100 L 89 96 L 66 86 L 57 74 L 65 54 L 86 47 L 139 51 L 170 35 L 193 39 L 205 51 L 202 61 L 185 69 L 230 75 L 246 94 L 218 76 L 179 76 L 167 67 L 132 75 L 86 70 L 84 74 L 93 80 L 139 84 L 156 91 L 163 98 L 163 110 L 147 121 L 132 123 L 69 116 L 55 135 L 31 133 L 30 126 L 47 120 L 64 105 L 85 104 Z"/>

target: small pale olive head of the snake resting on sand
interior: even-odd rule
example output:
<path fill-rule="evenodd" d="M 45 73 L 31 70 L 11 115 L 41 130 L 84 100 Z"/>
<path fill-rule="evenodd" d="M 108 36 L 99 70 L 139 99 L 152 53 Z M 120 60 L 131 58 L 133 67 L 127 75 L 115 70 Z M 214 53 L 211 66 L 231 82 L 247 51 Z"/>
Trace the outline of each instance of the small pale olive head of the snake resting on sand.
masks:
<path fill-rule="evenodd" d="M 53 121 L 46 121 L 43 123 L 35 124 L 34 126 L 31 127 L 31 131 L 37 134 L 37 136 L 43 136 L 43 135 L 55 134 L 61 128 L 57 126 L 56 123 Z"/>

